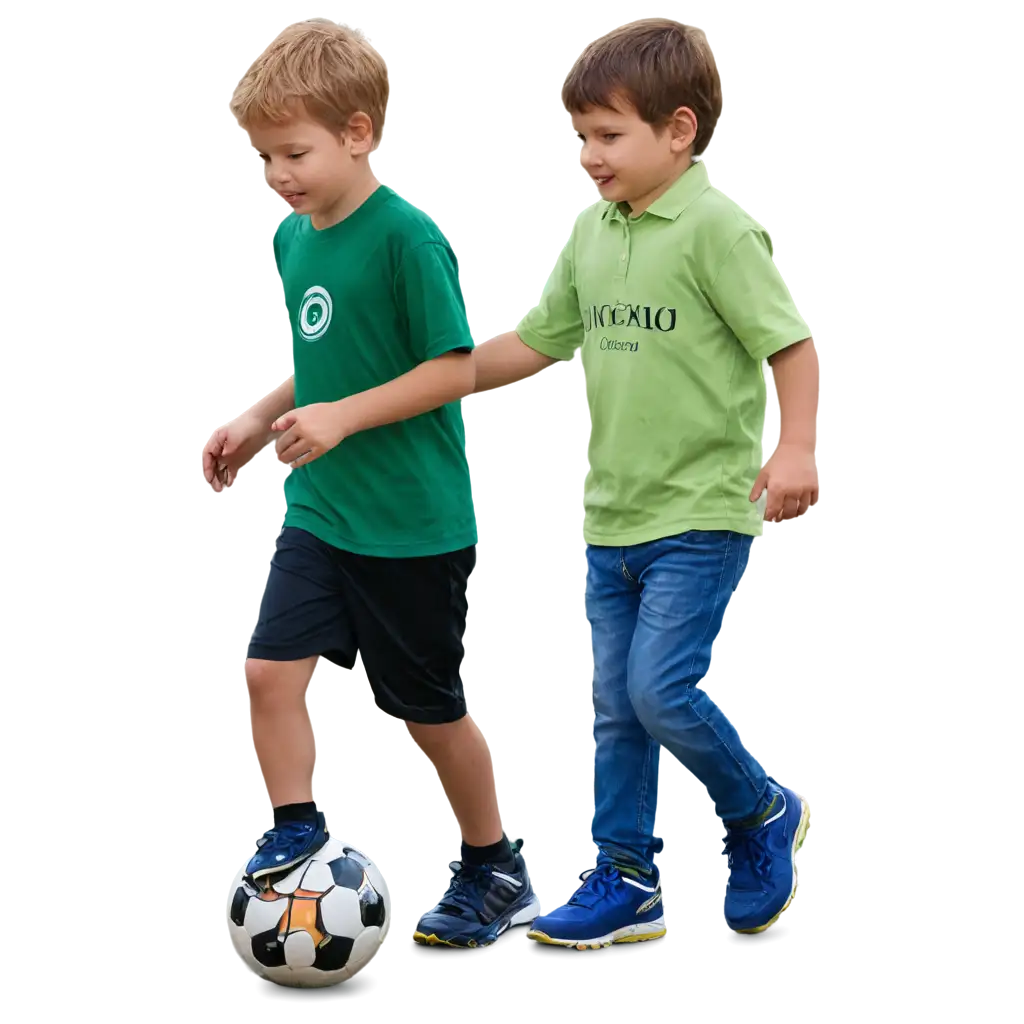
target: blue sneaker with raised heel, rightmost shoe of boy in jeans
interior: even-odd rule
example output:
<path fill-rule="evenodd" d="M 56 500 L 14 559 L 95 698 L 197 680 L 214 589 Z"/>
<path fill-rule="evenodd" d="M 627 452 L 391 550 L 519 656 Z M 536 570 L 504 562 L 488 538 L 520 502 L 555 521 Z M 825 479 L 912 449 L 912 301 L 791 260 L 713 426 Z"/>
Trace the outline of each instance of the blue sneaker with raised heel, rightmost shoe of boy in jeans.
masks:
<path fill-rule="evenodd" d="M 814 810 L 802 794 L 773 785 L 775 803 L 753 828 L 727 829 L 729 881 L 725 920 L 737 935 L 767 932 L 800 891 L 800 850 Z"/>

